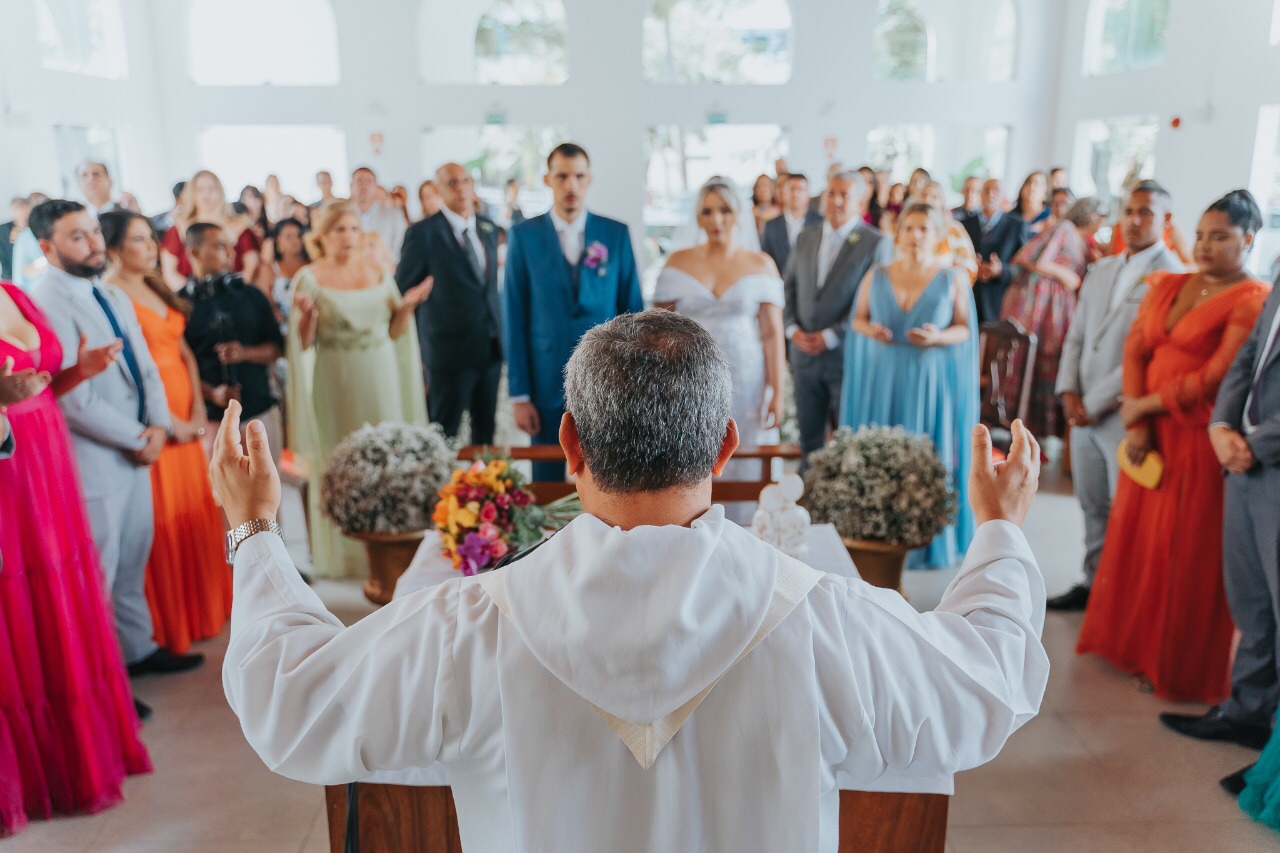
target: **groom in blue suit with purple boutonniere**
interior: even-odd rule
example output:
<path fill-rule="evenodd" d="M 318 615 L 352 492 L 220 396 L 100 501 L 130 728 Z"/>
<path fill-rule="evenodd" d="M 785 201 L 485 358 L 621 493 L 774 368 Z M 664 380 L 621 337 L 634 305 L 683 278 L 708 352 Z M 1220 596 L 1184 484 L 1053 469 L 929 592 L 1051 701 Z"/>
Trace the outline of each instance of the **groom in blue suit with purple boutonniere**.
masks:
<path fill-rule="evenodd" d="M 572 142 L 547 158 L 550 211 L 512 227 L 507 238 L 507 386 L 516 425 L 535 444 L 559 443 L 564 365 L 594 325 L 643 311 L 631 232 L 586 210 L 591 160 Z M 535 462 L 534 480 L 562 480 L 564 465 Z"/>

